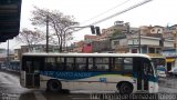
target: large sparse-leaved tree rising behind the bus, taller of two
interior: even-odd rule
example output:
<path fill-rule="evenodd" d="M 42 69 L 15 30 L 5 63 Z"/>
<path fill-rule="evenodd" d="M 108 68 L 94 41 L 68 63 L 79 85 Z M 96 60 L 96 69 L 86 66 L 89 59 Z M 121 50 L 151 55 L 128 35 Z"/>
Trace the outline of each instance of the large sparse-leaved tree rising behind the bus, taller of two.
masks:
<path fill-rule="evenodd" d="M 79 22 L 74 21 L 73 16 L 64 16 L 59 10 L 40 9 L 34 7 L 35 10 L 32 11 L 32 24 L 33 26 L 46 26 L 49 22 L 50 28 L 54 32 L 53 34 L 58 38 L 58 44 L 60 51 L 63 51 L 63 46 L 66 41 L 73 39 L 72 31 L 74 26 L 77 26 Z"/>

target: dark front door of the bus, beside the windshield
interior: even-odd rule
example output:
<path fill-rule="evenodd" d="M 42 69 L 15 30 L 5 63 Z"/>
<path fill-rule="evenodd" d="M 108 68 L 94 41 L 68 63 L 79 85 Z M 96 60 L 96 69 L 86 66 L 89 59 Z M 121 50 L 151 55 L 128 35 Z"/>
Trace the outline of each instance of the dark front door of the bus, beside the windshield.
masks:
<path fill-rule="evenodd" d="M 148 92 L 148 78 L 145 72 L 146 62 L 143 61 L 142 59 L 136 59 L 135 67 L 137 72 L 137 90 Z"/>

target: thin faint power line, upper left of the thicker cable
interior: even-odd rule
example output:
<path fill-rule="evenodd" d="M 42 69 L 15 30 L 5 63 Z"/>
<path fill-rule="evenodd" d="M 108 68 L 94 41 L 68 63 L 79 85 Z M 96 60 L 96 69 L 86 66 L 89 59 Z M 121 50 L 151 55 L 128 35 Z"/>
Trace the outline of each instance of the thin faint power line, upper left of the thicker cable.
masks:
<path fill-rule="evenodd" d="M 98 18 L 100 16 L 105 14 L 105 13 L 107 13 L 107 12 L 114 10 L 114 9 L 116 9 L 117 7 L 121 7 L 121 6 L 125 4 L 125 3 L 127 3 L 128 1 L 131 1 L 131 0 L 126 0 L 126 1 L 124 1 L 124 2 L 122 2 L 122 3 L 118 3 L 117 6 L 111 8 L 111 9 L 108 9 L 108 10 L 106 10 L 106 11 L 104 11 L 104 12 L 102 12 L 102 13 L 95 16 L 95 17 L 93 17 L 93 18 L 91 18 L 91 19 L 88 19 L 88 20 L 85 20 L 85 21 L 82 22 L 81 24 L 84 24 L 84 23 L 87 22 L 87 21 L 91 21 L 91 20 L 93 20 L 93 19 L 95 19 L 95 18 Z"/>

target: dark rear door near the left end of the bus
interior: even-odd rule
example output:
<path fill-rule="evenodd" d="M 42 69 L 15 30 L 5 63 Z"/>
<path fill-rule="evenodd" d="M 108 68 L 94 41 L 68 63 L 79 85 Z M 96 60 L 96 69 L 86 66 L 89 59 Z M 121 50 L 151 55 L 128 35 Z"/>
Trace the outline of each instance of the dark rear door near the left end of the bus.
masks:
<path fill-rule="evenodd" d="M 27 61 L 25 87 L 27 88 L 40 87 L 40 62 Z"/>

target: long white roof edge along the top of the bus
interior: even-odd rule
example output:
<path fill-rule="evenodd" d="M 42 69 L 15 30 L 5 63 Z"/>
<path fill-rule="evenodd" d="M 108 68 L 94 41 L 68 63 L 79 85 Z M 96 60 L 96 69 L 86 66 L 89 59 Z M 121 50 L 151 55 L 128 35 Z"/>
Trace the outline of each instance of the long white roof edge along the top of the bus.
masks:
<path fill-rule="evenodd" d="M 23 53 L 23 56 L 31 57 L 143 57 L 149 58 L 147 54 L 143 53 Z"/>

